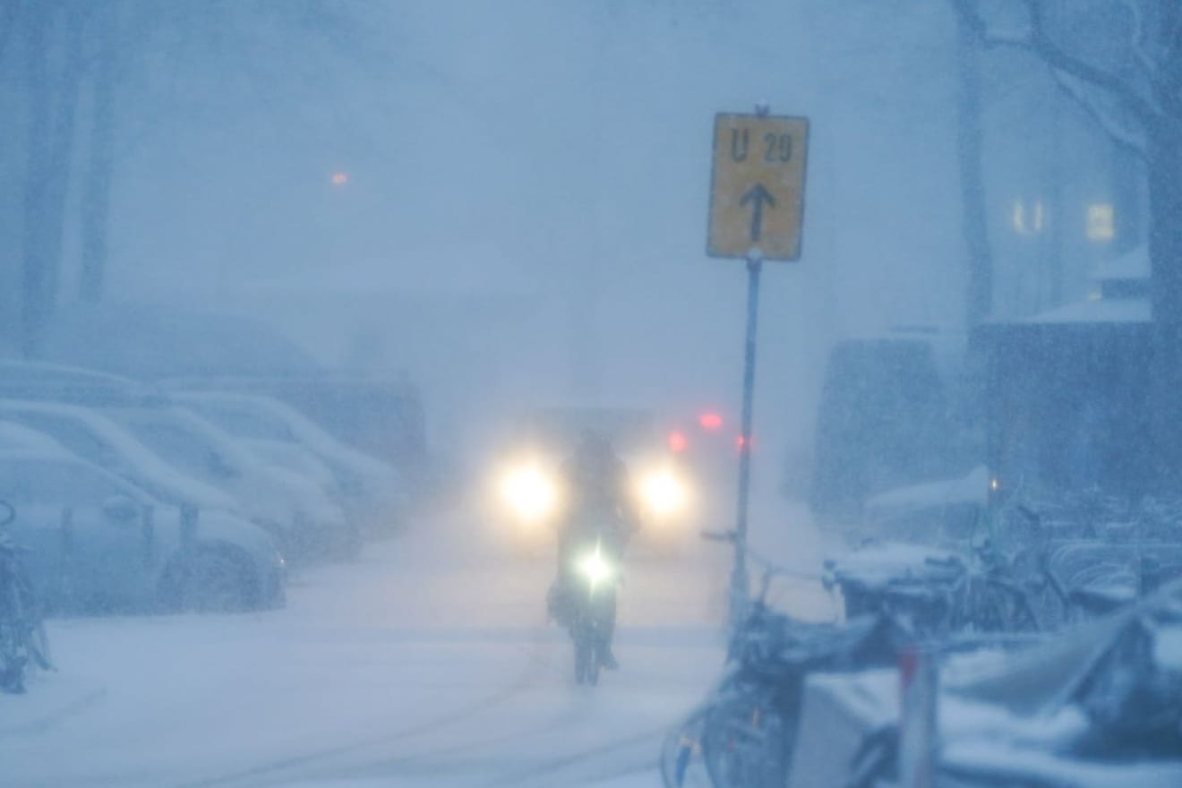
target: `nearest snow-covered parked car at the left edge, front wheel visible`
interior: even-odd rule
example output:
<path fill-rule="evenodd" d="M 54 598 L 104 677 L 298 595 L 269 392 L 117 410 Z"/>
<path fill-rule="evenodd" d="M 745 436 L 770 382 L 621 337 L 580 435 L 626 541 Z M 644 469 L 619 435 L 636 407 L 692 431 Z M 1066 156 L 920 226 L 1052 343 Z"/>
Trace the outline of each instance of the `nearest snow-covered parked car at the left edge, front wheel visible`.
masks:
<path fill-rule="evenodd" d="M 176 507 L 70 454 L 11 449 L 0 429 L 0 500 L 39 595 L 59 610 L 235 611 L 280 606 L 284 560 L 266 532 Z M 48 438 L 46 438 L 48 441 Z"/>

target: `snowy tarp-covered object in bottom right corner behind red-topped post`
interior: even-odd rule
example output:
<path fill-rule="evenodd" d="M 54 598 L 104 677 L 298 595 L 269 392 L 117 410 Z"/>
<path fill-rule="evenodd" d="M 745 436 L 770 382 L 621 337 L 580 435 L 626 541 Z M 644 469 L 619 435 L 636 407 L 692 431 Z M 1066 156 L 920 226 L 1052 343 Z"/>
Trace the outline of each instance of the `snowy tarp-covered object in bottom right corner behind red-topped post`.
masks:
<path fill-rule="evenodd" d="M 937 788 L 1182 786 L 1182 584 L 1020 651 L 944 660 Z M 897 779 L 895 671 L 810 677 L 793 788 L 853 784 L 878 744 Z"/>

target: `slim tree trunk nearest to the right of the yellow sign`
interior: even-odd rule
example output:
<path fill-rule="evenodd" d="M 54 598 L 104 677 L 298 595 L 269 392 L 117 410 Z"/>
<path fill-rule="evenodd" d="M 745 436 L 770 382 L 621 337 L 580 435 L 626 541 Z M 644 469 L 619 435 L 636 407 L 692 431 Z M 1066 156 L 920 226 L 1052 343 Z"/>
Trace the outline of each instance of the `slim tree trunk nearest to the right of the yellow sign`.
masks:
<path fill-rule="evenodd" d="M 957 158 L 961 181 L 961 232 L 968 250 L 966 320 L 972 327 L 993 312 L 993 252 L 989 247 L 988 209 L 985 198 L 981 128 L 981 74 L 978 65 L 978 33 L 956 14 L 960 100 L 956 105 Z"/>

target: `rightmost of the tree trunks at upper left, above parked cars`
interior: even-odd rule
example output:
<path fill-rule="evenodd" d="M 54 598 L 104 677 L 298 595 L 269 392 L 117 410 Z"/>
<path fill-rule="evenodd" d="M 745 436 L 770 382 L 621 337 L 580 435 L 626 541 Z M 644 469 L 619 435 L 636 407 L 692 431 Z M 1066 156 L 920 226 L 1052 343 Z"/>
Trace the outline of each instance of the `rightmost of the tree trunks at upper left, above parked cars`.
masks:
<path fill-rule="evenodd" d="M 90 161 L 83 175 L 82 274 L 78 297 L 85 302 L 103 298 L 106 275 L 108 219 L 111 178 L 115 170 L 115 71 L 117 58 L 118 4 L 112 2 L 98 22 L 100 50 L 95 70 L 93 117 L 90 128 Z"/>

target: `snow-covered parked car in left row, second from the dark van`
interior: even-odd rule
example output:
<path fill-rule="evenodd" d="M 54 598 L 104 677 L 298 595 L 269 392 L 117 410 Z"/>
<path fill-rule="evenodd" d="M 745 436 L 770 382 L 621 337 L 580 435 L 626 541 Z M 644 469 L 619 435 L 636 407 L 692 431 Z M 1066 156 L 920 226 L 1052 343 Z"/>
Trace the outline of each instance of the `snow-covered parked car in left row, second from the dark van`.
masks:
<path fill-rule="evenodd" d="M 349 554 L 359 546 L 344 510 L 317 484 L 260 461 L 189 409 L 160 405 L 99 412 L 174 468 L 233 496 L 253 522 L 275 536 L 285 555 Z"/>

